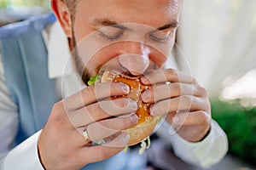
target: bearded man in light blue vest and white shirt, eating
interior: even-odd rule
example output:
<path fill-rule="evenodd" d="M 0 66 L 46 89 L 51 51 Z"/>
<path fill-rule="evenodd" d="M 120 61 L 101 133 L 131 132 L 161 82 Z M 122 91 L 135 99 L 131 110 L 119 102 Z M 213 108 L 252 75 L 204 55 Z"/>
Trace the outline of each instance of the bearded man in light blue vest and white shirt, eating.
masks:
<path fill-rule="evenodd" d="M 227 139 L 206 89 L 168 66 L 182 1 L 51 0 L 51 7 L 55 16 L 0 29 L 2 169 L 127 169 L 125 130 L 140 122 L 140 104 L 148 117 L 165 119 L 158 131 L 183 161 L 211 167 L 224 156 Z M 112 78 L 102 81 L 106 71 Z M 90 77 L 96 83 L 84 87 Z M 116 77 L 149 88 L 135 98 L 136 88 Z"/>

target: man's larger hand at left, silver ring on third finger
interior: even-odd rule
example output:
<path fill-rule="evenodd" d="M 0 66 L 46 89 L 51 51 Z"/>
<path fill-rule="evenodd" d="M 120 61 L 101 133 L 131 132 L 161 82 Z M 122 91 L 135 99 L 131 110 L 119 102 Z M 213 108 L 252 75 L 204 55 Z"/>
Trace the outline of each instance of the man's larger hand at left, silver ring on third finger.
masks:
<path fill-rule="evenodd" d="M 128 94 L 129 90 L 121 82 L 98 83 L 56 103 L 38 139 L 43 166 L 79 169 L 123 150 L 130 137 L 121 131 L 137 124 L 137 103 L 111 97 Z M 84 139 L 84 129 L 91 141 L 107 139 L 108 144 L 92 145 Z"/>

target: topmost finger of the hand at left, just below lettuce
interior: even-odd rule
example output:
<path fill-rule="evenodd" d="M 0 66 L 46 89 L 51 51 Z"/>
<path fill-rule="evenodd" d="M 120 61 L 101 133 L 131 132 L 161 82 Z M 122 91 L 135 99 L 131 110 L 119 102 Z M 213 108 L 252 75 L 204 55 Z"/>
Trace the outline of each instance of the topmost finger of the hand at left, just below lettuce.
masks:
<path fill-rule="evenodd" d="M 64 103 L 68 111 L 73 111 L 110 96 L 128 94 L 129 91 L 129 86 L 123 82 L 96 83 L 64 99 Z"/>

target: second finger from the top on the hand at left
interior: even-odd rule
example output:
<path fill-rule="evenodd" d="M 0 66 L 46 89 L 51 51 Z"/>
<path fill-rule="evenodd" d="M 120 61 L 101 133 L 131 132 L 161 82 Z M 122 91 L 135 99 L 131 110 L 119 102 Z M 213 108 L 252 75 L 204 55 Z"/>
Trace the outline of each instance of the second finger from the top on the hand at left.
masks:
<path fill-rule="evenodd" d="M 124 115 L 135 111 L 137 111 L 136 101 L 132 99 L 113 99 L 88 105 L 78 111 L 69 111 L 68 117 L 74 127 L 84 127 L 111 116 Z"/>

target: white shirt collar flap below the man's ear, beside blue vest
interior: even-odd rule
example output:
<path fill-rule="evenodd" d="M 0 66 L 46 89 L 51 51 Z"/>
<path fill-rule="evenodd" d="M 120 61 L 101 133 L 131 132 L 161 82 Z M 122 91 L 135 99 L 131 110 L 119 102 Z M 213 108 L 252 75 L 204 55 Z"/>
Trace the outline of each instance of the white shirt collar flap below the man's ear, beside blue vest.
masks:
<path fill-rule="evenodd" d="M 58 21 L 45 28 L 43 32 L 48 48 L 49 78 L 71 75 L 75 72 L 70 57 L 67 37 Z"/>

